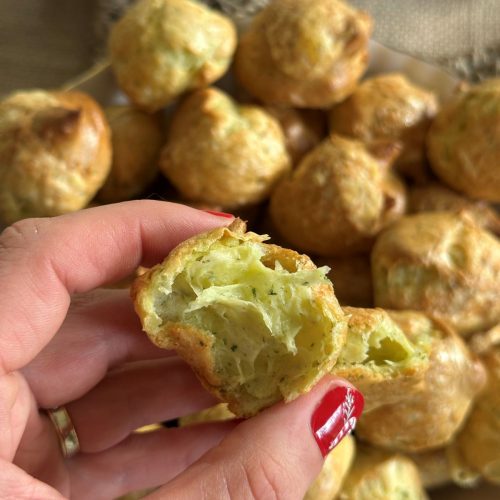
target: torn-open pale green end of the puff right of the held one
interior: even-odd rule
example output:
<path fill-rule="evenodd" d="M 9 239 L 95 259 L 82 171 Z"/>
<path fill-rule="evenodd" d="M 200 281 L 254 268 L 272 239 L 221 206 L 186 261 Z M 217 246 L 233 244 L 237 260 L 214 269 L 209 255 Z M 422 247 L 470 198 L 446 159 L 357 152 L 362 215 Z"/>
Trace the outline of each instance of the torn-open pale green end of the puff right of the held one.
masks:
<path fill-rule="evenodd" d="M 347 338 L 332 372 L 363 393 L 365 412 L 421 390 L 433 331 L 423 330 L 412 342 L 383 309 L 345 307 L 344 312 Z"/>

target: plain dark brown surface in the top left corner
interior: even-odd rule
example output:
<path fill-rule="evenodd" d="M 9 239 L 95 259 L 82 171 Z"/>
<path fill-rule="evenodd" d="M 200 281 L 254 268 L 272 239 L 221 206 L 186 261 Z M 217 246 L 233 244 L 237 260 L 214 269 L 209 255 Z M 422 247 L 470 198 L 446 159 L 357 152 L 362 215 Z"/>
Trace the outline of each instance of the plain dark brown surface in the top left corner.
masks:
<path fill-rule="evenodd" d="M 60 85 L 93 57 L 93 0 L 0 0 L 0 95 Z"/>

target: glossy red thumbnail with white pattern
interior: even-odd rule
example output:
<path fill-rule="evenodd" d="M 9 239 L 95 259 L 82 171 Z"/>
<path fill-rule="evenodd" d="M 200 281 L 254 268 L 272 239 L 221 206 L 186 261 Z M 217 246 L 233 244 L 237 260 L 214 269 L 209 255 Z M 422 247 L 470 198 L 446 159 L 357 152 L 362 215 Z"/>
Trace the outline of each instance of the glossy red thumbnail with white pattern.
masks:
<path fill-rule="evenodd" d="M 335 387 L 323 396 L 311 418 L 314 438 L 323 456 L 356 427 L 364 404 L 363 395 L 352 387 Z"/>

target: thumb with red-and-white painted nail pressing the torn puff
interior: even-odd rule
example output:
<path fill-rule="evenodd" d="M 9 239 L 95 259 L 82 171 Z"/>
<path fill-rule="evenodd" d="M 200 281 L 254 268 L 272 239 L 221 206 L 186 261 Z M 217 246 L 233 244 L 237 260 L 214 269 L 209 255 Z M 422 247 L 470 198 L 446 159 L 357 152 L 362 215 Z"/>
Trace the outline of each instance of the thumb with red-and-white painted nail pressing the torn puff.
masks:
<path fill-rule="evenodd" d="M 173 481 L 148 498 L 298 498 L 324 456 L 354 428 L 363 396 L 325 377 L 311 392 L 239 424 Z"/>

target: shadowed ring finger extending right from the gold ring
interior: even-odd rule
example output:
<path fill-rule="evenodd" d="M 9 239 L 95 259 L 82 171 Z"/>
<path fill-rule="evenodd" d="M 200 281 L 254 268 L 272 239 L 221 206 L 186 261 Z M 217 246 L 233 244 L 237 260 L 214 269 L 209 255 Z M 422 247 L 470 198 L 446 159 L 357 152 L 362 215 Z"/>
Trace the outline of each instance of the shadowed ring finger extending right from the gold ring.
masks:
<path fill-rule="evenodd" d="M 83 452 L 105 450 L 143 425 L 177 418 L 215 404 L 179 358 L 129 363 L 68 403 Z"/>

